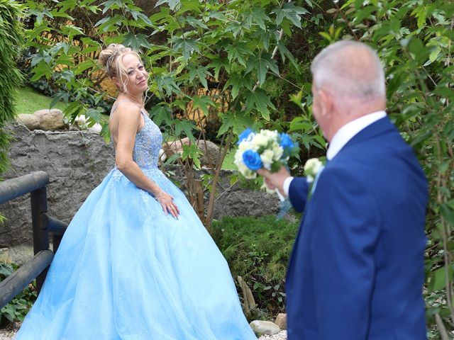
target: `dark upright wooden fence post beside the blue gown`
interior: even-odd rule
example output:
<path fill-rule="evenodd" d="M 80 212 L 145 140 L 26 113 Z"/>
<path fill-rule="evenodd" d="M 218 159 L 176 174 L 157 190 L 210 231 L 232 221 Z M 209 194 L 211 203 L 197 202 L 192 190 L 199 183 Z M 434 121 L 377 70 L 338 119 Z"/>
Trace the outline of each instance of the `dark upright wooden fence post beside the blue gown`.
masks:
<path fill-rule="evenodd" d="M 49 249 L 49 229 L 48 223 L 43 215 L 48 211 L 48 198 L 46 188 L 39 188 L 30 193 L 31 199 L 31 221 L 33 226 L 33 252 L 38 254 L 42 250 Z M 45 268 L 43 273 L 36 278 L 36 290 L 40 293 L 41 287 L 48 273 Z"/>

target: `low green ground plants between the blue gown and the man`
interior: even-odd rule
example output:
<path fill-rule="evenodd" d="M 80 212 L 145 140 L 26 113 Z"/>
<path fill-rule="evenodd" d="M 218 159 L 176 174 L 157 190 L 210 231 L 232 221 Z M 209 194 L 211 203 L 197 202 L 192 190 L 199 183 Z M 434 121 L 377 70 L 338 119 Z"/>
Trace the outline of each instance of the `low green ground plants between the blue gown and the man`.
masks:
<path fill-rule="evenodd" d="M 275 216 L 223 217 L 213 224 L 233 278 L 243 277 L 268 317 L 284 310 L 284 278 L 298 225 Z"/>

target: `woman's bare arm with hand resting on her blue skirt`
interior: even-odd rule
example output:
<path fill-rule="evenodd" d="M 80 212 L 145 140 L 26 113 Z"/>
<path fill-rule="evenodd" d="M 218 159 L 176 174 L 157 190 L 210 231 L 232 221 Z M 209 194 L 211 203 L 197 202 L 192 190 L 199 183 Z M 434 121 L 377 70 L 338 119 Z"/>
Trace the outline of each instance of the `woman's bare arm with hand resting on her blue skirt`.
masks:
<path fill-rule="evenodd" d="M 140 126 L 140 111 L 132 103 L 123 103 L 115 111 L 118 120 L 118 135 L 116 142 L 115 163 L 119 171 L 131 182 L 149 193 L 153 193 L 157 201 L 162 205 L 162 210 L 173 217 L 177 217 L 179 210 L 173 202 L 172 196 L 162 191 L 154 181 L 145 176 L 137 163 L 133 160 L 135 135 Z"/>

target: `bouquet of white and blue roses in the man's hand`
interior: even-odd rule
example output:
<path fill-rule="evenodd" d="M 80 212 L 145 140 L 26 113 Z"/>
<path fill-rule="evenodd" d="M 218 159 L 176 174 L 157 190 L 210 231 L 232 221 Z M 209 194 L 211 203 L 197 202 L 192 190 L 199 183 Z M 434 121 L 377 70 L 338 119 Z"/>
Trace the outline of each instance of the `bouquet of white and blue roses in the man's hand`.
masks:
<path fill-rule="evenodd" d="M 249 128 L 238 138 L 235 165 L 246 179 L 255 179 L 258 169 L 278 171 L 299 152 L 297 143 L 287 133 L 271 130 L 254 132 Z"/>

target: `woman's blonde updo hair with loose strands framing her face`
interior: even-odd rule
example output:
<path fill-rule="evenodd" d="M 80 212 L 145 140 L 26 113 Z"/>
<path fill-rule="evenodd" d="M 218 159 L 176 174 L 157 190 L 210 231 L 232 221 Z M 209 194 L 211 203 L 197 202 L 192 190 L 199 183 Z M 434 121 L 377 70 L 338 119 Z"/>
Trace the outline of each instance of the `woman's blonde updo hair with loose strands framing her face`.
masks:
<path fill-rule="evenodd" d="M 121 86 L 118 90 L 123 92 L 127 91 L 126 84 L 128 84 L 128 71 L 123 65 L 123 55 L 127 54 L 135 55 L 142 62 L 137 52 L 121 44 L 110 44 L 104 50 L 101 50 L 98 57 L 106 74 L 111 79 L 116 77 L 120 81 Z"/>

